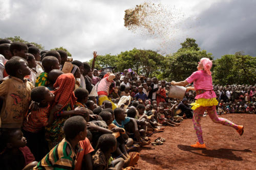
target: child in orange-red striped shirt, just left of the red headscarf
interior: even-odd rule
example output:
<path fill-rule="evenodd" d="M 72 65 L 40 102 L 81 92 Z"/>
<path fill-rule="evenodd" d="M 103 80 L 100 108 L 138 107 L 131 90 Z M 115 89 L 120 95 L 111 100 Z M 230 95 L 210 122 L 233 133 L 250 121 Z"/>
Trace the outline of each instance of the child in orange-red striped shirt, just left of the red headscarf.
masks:
<path fill-rule="evenodd" d="M 23 132 L 24 136 L 28 139 L 28 147 L 35 156 L 35 159 L 39 161 L 49 152 L 43 128 L 53 123 L 54 113 L 62 105 L 56 105 L 51 109 L 50 103 L 54 100 L 54 95 L 45 86 L 32 89 L 31 99 L 39 104 L 39 109 L 31 111 L 27 118 L 25 118 Z"/>

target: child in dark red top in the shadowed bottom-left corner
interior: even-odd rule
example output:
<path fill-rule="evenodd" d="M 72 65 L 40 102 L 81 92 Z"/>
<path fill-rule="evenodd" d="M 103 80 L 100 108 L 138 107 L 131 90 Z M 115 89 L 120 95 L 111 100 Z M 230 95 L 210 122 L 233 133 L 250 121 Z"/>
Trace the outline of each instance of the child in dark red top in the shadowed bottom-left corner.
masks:
<path fill-rule="evenodd" d="M 29 170 L 37 164 L 20 129 L 2 128 L 0 143 L 1 169 Z"/>

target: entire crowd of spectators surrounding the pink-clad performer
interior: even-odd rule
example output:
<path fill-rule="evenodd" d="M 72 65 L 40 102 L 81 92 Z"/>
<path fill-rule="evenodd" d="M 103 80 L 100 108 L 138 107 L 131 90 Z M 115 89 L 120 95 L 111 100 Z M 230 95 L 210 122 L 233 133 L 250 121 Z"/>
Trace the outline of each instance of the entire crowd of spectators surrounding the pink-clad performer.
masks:
<path fill-rule="evenodd" d="M 163 125 L 180 125 L 181 101 L 168 98 L 170 83 L 131 69 L 97 70 L 93 55 L 90 66 L 65 51 L 0 40 L 3 169 L 132 169 L 139 153 L 129 151 L 150 144 Z M 255 113 L 254 89 L 215 86 L 219 112 Z M 189 91 L 182 102 L 194 96 Z"/>

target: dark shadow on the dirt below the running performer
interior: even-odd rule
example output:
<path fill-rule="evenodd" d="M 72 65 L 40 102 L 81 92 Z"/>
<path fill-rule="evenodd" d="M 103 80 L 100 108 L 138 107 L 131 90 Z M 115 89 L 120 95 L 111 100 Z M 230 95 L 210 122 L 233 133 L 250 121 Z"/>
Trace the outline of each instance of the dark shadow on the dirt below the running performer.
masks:
<path fill-rule="evenodd" d="M 206 150 L 206 149 L 198 149 L 198 148 L 192 148 L 189 145 L 183 145 L 178 144 L 178 148 L 182 151 L 191 152 L 197 155 L 201 156 L 208 156 L 213 158 L 219 158 L 219 159 L 229 159 L 229 160 L 236 160 L 236 161 L 242 161 L 243 158 L 241 156 L 234 155 L 232 151 L 238 151 L 238 152 L 252 152 L 251 150 L 245 149 L 245 150 L 234 150 L 234 149 L 218 149 L 218 150 Z M 194 151 L 202 151 L 202 153 L 194 152 Z"/>

